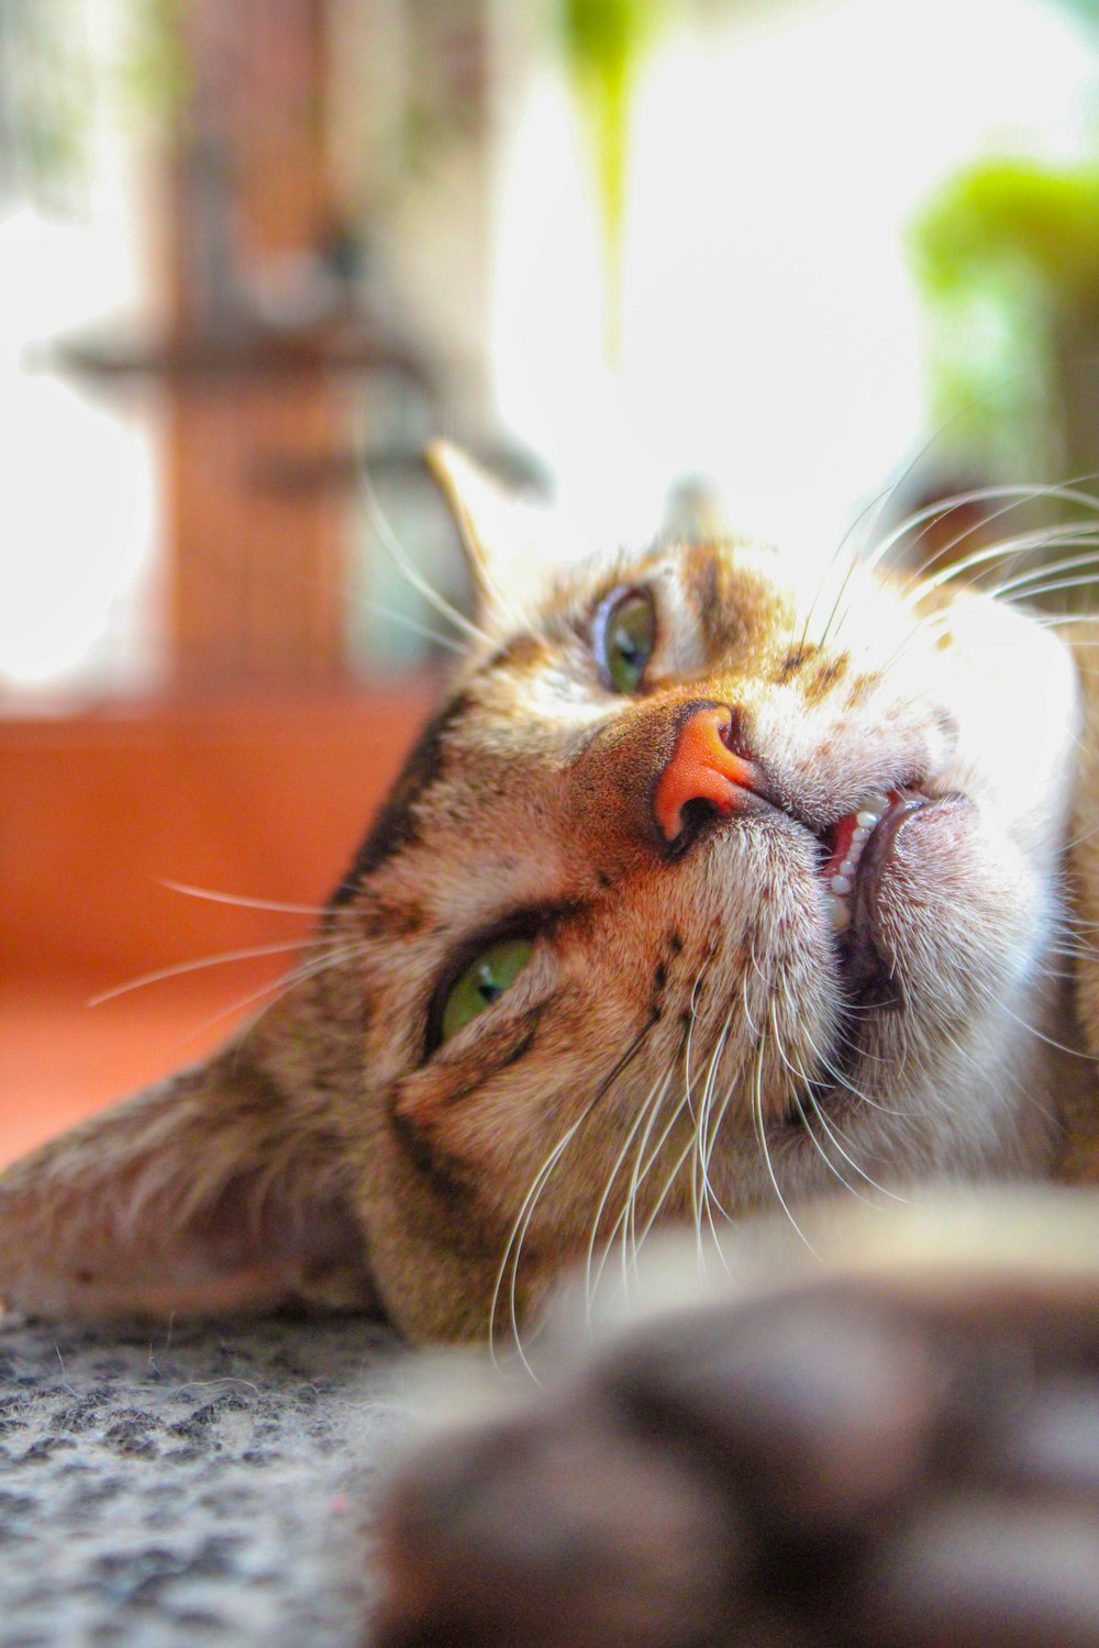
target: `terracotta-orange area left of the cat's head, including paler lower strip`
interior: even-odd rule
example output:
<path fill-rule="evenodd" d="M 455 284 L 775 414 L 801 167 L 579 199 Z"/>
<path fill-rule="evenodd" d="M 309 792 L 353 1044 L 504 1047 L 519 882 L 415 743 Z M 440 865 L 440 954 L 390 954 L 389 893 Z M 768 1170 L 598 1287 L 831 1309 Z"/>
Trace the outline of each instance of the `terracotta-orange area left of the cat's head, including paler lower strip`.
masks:
<path fill-rule="evenodd" d="M 0 1160 L 198 1058 L 288 971 L 292 949 L 87 1005 L 152 971 L 300 941 L 308 915 L 163 882 L 321 903 L 432 695 L 0 722 Z"/>

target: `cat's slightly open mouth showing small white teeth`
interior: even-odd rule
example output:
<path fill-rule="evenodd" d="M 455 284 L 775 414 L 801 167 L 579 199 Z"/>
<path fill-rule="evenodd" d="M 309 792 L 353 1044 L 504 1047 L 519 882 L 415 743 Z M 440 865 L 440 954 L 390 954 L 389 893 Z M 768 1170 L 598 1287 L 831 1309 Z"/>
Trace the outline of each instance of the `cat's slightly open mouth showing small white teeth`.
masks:
<path fill-rule="evenodd" d="M 905 824 L 931 798 L 919 789 L 873 791 L 822 834 L 824 898 L 839 939 L 844 984 L 860 1005 L 900 1005 L 893 962 L 882 943 L 878 892 Z"/>

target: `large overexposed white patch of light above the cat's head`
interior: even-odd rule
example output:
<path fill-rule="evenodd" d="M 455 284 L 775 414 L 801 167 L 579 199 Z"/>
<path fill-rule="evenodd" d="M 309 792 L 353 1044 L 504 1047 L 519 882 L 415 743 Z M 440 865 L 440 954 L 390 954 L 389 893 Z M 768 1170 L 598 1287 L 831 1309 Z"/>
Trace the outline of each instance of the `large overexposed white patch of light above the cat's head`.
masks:
<path fill-rule="evenodd" d="M 1079 155 L 1096 64 L 1043 0 L 725 16 L 639 87 L 618 376 L 567 89 L 534 81 L 501 191 L 499 407 L 596 534 L 649 534 L 707 471 L 746 531 L 819 555 L 924 438 L 914 209 L 980 153 Z"/>

